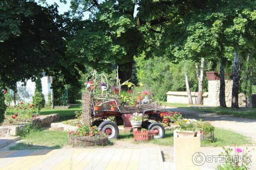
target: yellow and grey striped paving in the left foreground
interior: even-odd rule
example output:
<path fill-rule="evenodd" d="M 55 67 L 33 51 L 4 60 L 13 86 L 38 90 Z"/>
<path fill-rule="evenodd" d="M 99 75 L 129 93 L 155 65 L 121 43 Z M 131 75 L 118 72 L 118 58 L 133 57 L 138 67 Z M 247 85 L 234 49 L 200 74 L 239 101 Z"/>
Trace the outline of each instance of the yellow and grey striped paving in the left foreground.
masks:
<path fill-rule="evenodd" d="M 1 170 L 163 170 L 159 147 L 0 151 Z"/>

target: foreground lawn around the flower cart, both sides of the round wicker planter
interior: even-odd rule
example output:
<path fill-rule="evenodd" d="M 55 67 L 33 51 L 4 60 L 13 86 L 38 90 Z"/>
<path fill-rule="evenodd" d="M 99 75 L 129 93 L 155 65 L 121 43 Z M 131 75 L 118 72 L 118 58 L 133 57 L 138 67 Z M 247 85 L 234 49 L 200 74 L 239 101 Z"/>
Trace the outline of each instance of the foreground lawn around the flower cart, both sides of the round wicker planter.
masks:
<path fill-rule="evenodd" d="M 239 143 L 239 145 L 252 144 L 250 139 L 247 137 L 231 130 L 224 130 L 220 128 L 215 128 L 215 138 L 215 142 L 202 142 L 201 146 L 222 147 L 231 146 L 233 143 Z M 55 130 L 32 130 L 31 133 L 21 136 L 21 139 L 24 141 L 18 143 L 16 146 L 10 147 L 10 150 L 59 149 L 67 146 L 67 132 Z M 119 139 L 112 139 L 111 144 L 114 145 L 116 140 L 119 140 L 119 142 L 129 142 L 131 144 L 140 143 L 133 141 L 133 133 L 120 133 Z M 163 139 L 153 139 L 150 140 L 149 143 L 173 146 L 173 131 L 166 131 L 166 136 Z"/>

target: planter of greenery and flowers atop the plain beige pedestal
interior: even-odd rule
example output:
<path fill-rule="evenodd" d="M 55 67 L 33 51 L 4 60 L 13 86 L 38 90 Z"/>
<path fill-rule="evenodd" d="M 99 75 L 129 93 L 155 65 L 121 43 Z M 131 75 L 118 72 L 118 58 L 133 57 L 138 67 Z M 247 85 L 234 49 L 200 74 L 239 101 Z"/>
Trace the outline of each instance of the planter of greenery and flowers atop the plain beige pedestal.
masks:
<path fill-rule="evenodd" d="M 180 127 L 176 130 L 178 136 L 194 137 L 197 136 L 199 123 L 195 119 L 183 119 L 180 122 Z"/>

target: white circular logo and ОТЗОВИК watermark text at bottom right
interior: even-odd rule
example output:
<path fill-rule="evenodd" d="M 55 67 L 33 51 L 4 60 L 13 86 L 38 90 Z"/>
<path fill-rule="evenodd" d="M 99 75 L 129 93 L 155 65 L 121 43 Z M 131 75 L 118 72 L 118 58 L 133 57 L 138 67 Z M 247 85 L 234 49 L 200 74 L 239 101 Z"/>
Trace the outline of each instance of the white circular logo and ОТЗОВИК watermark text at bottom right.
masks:
<path fill-rule="evenodd" d="M 196 152 L 192 156 L 192 162 L 197 165 L 201 166 L 205 162 L 219 162 L 219 163 L 224 163 L 224 162 L 243 162 L 243 163 L 251 163 L 251 157 L 252 156 L 244 156 L 244 155 L 239 155 L 239 156 L 205 156 L 204 153 L 201 152 Z"/>

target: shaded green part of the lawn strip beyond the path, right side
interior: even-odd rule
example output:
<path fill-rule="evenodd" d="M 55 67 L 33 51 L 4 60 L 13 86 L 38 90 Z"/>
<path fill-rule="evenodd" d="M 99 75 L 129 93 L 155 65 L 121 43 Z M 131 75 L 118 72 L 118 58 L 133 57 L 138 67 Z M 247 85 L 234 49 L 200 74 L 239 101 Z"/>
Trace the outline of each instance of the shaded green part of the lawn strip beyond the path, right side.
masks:
<path fill-rule="evenodd" d="M 241 118 L 256 119 L 256 108 L 221 108 L 221 107 L 189 107 L 188 109 L 194 109 L 198 111 L 227 114 Z"/>

